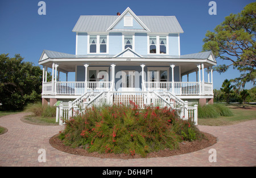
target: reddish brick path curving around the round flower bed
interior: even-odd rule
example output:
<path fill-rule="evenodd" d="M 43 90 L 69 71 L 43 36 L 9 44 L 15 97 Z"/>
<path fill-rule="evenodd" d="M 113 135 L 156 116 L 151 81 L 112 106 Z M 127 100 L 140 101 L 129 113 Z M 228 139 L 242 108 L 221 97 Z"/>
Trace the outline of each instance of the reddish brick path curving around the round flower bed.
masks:
<path fill-rule="evenodd" d="M 102 159 L 68 154 L 49 145 L 49 138 L 63 126 L 26 124 L 26 113 L 0 118 L 8 132 L 0 135 L 0 166 L 256 166 L 256 120 L 230 126 L 199 126 L 218 137 L 206 149 L 166 158 Z M 39 149 L 46 150 L 46 162 L 39 163 Z M 217 151 L 217 162 L 210 163 L 209 149 Z"/>

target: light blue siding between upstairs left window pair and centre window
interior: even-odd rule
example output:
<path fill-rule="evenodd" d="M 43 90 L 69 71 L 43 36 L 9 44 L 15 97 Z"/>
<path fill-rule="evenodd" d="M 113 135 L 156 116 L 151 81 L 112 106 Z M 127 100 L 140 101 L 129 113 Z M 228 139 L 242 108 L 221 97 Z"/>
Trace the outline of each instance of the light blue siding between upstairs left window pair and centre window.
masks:
<path fill-rule="evenodd" d="M 109 33 L 109 54 L 122 52 L 122 33 Z"/>

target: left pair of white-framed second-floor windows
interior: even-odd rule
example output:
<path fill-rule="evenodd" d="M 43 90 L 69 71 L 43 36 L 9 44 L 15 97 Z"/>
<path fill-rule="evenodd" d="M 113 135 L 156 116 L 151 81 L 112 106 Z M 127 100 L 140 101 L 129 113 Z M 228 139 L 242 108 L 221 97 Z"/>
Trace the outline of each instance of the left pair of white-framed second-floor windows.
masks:
<path fill-rule="evenodd" d="M 107 53 L 108 39 L 106 35 L 90 35 L 89 53 Z"/>

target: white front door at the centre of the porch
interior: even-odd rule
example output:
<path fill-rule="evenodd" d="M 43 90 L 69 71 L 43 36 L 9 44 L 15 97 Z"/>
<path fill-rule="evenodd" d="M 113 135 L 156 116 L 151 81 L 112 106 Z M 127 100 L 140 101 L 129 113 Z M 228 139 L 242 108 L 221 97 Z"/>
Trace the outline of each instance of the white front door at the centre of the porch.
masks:
<path fill-rule="evenodd" d="M 122 91 L 135 90 L 135 75 L 133 70 L 122 70 Z"/>

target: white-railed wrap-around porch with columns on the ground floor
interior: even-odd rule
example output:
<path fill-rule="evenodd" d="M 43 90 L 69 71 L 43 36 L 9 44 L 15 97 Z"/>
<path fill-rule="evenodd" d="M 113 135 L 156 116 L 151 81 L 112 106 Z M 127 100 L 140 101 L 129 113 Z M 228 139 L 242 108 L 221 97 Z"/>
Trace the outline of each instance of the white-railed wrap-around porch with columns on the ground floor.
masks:
<path fill-rule="evenodd" d="M 64 70 L 64 66 L 65 63 L 52 63 L 51 82 L 47 82 L 48 67 L 43 67 L 43 96 L 79 96 L 87 91 L 168 91 L 177 96 L 213 96 L 213 69 L 212 66 L 205 66 L 204 63 L 193 63 L 193 65 L 178 63 L 168 66 L 154 66 L 152 63 L 124 66 L 115 63 L 104 67 L 86 63 L 75 66 L 76 81 L 71 82 L 68 81 L 68 70 Z M 84 74 L 78 71 L 81 67 L 84 67 Z M 205 69 L 207 69 L 207 81 L 205 81 Z M 60 72 L 66 74 L 66 81 L 59 80 Z M 188 80 L 191 73 L 196 73 L 193 82 Z M 81 78 L 79 75 L 84 77 Z M 185 76 L 187 81 L 182 81 Z"/>

